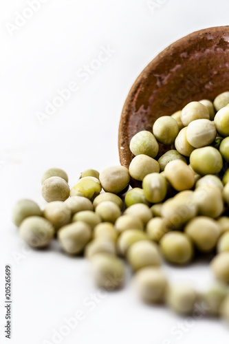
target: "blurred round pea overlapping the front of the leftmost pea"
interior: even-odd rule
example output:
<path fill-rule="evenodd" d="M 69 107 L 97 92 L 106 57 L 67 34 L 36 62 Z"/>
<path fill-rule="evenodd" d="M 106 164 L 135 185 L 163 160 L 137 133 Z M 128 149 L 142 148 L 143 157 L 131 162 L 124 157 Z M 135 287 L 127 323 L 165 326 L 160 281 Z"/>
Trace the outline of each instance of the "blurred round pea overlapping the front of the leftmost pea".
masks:
<path fill-rule="evenodd" d="M 54 237 L 54 226 L 40 216 L 30 216 L 21 222 L 19 235 L 34 248 L 43 248 L 50 244 Z"/>

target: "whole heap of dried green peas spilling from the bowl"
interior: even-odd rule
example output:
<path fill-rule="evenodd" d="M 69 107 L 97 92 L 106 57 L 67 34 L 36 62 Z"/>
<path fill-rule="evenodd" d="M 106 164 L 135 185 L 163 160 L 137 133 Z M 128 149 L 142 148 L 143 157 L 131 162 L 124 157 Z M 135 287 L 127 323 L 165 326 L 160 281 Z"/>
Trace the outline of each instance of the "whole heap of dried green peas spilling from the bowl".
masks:
<path fill-rule="evenodd" d="M 162 156 L 158 142 L 170 145 Z M 208 315 L 229 321 L 229 92 L 158 118 L 153 133 L 133 136 L 130 149 L 129 169 L 84 171 L 72 189 L 65 171 L 46 171 L 45 208 L 32 200 L 14 206 L 19 235 L 34 248 L 57 237 L 67 254 L 89 259 L 94 280 L 107 290 L 124 283 L 126 259 L 144 301 L 179 314 L 204 302 Z M 131 178 L 142 188 L 129 189 Z M 162 259 L 184 266 L 208 252 L 215 253 L 214 286 L 198 292 L 168 282 Z"/>

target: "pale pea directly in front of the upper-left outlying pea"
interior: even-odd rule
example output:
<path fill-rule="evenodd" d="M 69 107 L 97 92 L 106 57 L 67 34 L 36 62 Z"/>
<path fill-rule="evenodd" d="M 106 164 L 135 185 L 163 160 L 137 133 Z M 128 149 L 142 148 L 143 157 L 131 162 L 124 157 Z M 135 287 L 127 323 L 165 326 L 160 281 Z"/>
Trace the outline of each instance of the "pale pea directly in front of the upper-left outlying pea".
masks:
<path fill-rule="evenodd" d="M 41 194 L 46 202 L 65 201 L 69 193 L 69 185 L 61 177 L 47 178 L 42 184 Z"/>

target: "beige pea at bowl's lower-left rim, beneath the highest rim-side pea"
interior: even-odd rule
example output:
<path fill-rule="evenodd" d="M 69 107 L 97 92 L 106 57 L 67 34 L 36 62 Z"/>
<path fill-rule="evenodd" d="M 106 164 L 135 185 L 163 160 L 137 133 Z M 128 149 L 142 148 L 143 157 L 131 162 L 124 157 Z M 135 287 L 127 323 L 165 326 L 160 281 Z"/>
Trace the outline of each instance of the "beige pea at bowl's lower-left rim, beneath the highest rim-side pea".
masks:
<path fill-rule="evenodd" d="M 160 166 L 158 162 L 148 155 L 140 154 L 135 156 L 129 165 L 129 174 L 135 180 L 142 181 L 149 173 L 159 173 Z"/>

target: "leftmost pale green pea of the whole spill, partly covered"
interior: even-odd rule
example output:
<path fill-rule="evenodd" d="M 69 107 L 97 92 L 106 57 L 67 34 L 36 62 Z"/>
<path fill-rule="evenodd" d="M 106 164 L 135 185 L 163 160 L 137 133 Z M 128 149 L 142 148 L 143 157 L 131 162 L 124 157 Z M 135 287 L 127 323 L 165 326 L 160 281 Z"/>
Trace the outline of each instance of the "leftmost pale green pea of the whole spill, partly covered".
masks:
<path fill-rule="evenodd" d="M 19 200 L 12 211 L 12 222 L 19 227 L 21 222 L 30 216 L 42 216 L 38 204 L 32 200 Z"/>

